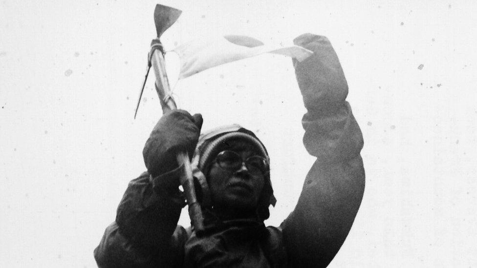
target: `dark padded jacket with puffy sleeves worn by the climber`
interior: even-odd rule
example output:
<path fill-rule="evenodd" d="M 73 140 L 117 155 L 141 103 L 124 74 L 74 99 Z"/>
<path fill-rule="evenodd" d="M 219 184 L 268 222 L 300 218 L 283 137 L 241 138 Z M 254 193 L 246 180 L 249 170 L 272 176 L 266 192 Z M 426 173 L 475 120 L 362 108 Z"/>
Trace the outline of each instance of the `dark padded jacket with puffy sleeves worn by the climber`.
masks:
<path fill-rule="evenodd" d="M 338 252 L 363 197 L 363 137 L 347 97 L 338 57 L 322 36 L 304 34 L 297 45 L 314 54 L 294 61 L 307 113 L 303 138 L 317 158 L 294 211 L 280 227 L 254 219 L 214 220 L 197 237 L 177 226 L 184 201 L 167 190 L 152 190 L 148 173 L 130 182 L 94 250 L 99 267 L 326 267 Z M 174 174 L 163 175 L 164 180 Z M 212 219 L 212 220 L 211 220 Z"/>

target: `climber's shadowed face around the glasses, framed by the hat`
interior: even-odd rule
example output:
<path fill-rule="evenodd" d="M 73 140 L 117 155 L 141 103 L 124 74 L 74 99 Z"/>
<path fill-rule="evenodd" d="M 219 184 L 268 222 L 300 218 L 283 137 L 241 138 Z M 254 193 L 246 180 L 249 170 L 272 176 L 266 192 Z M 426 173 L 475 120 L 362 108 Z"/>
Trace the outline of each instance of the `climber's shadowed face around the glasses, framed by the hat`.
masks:
<path fill-rule="evenodd" d="M 257 155 L 253 146 L 245 142 L 229 142 L 223 150 L 234 151 L 242 161 Z M 215 206 L 232 209 L 255 209 L 264 185 L 264 174 L 251 174 L 244 163 L 237 170 L 226 170 L 216 161 L 209 171 L 209 188 Z"/>

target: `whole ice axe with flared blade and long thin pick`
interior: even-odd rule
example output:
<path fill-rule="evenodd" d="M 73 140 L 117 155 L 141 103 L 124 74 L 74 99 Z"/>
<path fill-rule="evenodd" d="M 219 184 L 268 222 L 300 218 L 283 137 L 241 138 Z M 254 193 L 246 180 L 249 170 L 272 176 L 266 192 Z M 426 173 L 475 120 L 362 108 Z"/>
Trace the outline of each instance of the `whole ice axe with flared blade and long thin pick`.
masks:
<path fill-rule="evenodd" d="M 143 83 L 143 88 L 139 94 L 139 100 L 137 102 L 134 118 L 137 114 L 139 102 L 141 101 L 142 92 L 144 90 L 144 85 L 146 83 L 151 66 L 154 69 L 154 74 L 156 77 L 155 88 L 157 95 L 159 96 L 159 101 L 161 102 L 163 113 L 169 110 L 177 109 L 174 99 L 171 96 L 172 92 L 169 86 L 169 80 L 167 79 L 166 65 L 164 62 L 164 49 L 159 39 L 162 34 L 179 18 L 181 13 L 182 11 L 178 9 L 156 4 L 154 9 L 154 23 L 156 26 L 157 38 L 152 40 L 151 43 L 148 70 Z M 194 177 L 192 175 L 192 166 L 188 153 L 179 152 L 177 154 L 177 162 L 179 166 L 183 167 L 183 172 L 180 177 L 180 184 L 184 189 L 187 205 L 189 206 L 189 217 L 191 218 L 191 222 L 195 231 L 200 233 L 204 230 L 204 221 L 200 204 L 198 203 L 197 197 L 195 195 Z"/>

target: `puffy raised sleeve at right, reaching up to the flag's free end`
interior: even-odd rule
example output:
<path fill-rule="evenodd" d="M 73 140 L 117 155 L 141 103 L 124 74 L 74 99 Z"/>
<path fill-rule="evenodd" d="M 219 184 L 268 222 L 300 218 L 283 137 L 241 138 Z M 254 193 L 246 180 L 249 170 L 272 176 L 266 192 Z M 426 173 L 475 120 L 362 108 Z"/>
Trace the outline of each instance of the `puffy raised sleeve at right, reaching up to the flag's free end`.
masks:
<path fill-rule="evenodd" d="M 363 136 L 353 117 L 338 57 L 323 36 L 295 39 L 314 54 L 294 61 L 307 109 L 303 143 L 317 159 L 304 181 L 294 211 L 282 223 L 294 267 L 326 267 L 345 241 L 363 197 Z"/>

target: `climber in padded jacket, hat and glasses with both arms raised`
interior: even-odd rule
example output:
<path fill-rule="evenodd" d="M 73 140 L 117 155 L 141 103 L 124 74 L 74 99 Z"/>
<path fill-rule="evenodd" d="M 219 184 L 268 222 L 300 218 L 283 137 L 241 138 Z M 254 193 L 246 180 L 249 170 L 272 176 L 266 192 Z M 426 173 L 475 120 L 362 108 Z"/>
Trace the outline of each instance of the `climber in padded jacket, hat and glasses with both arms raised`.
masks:
<path fill-rule="evenodd" d="M 276 199 L 268 152 L 253 132 L 234 124 L 199 136 L 202 117 L 176 110 L 162 116 L 146 142 L 148 171 L 130 182 L 115 222 L 94 250 L 98 267 L 326 267 L 331 262 L 363 197 L 363 137 L 330 42 L 312 34 L 294 41 L 314 52 L 293 64 L 307 109 L 303 142 L 316 162 L 293 212 L 279 227 L 265 227 Z M 192 157 L 205 218 L 200 234 L 177 226 L 185 206 L 178 151 Z"/>

